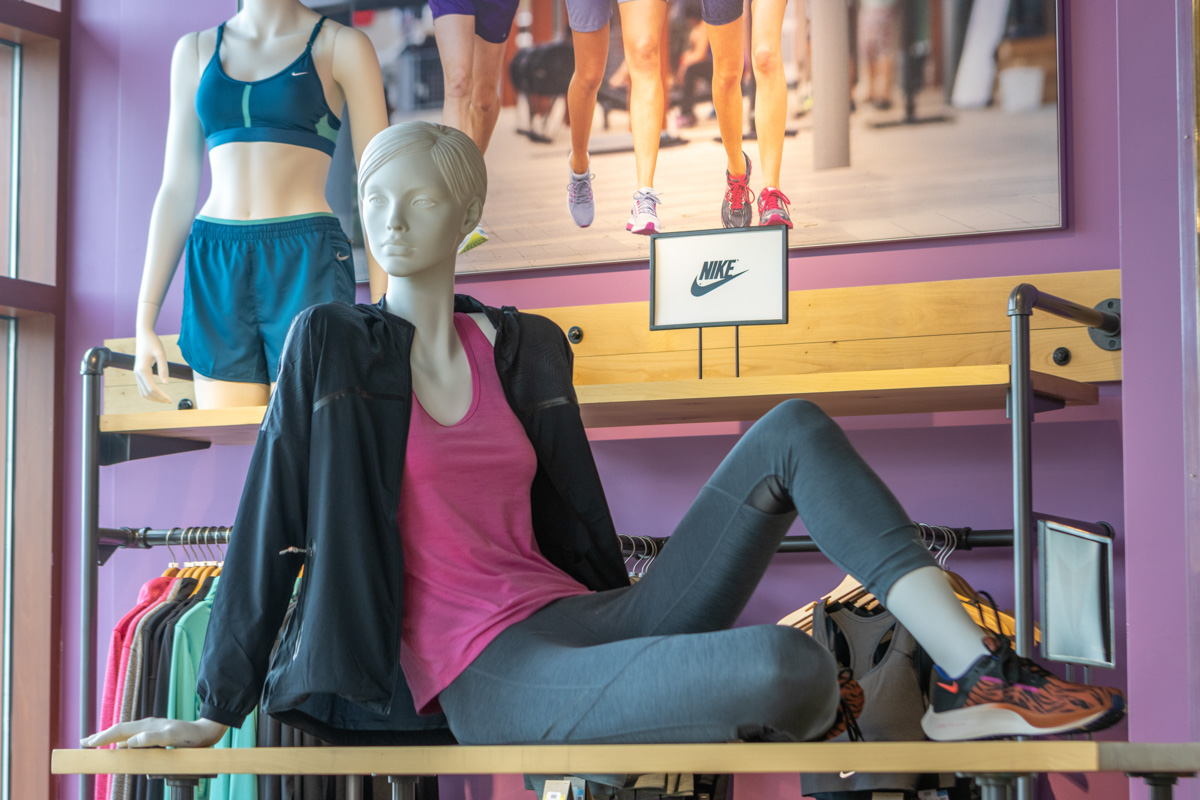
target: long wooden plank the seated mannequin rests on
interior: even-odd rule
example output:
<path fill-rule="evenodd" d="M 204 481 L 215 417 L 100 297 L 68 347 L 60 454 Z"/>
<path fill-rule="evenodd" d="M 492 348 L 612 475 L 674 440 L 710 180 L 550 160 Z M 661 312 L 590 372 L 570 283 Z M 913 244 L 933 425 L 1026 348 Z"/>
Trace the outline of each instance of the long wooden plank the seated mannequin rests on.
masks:
<path fill-rule="evenodd" d="M 55 775 L 1096 772 L 1200 770 L 1200 744 L 1092 741 L 56 750 Z"/>

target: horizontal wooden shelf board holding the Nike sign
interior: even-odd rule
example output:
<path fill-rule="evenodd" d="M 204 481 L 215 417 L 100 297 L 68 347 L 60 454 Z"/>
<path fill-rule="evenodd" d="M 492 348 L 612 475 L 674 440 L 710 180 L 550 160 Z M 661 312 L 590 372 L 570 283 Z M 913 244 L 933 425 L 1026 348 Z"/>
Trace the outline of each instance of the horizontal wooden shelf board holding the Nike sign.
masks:
<path fill-rule="evenodd" d="M 1068 405 L 1092 405 L 1098 391 L 1034 372 L 1033 391 Z M 830 416 L 977 411 L 1004 408 L 1008 367 L 932 367 L 811 373 L 757 378 L 664 380 L 576 386 L 588 427 L 756 420 L 792 397 L 812 401 Z M 221 410 L 106 414 L 106 433 L 140 433 L 212 444 L 253 444 L 263 407 Z"/>

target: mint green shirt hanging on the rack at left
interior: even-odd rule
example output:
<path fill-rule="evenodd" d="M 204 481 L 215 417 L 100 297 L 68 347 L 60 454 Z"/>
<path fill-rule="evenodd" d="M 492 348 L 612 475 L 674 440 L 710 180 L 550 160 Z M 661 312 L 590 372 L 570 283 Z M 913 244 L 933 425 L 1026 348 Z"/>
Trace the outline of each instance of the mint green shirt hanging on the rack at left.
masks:
<path fill-rule="evenodd" d="M 170 704 L 168 716 L 173 720 L 194 722 L 200 717 L 200 698 L 196 693 L 196 678 L 200 669 L 200 652 L 204 634 L 209 630 L 212 600 L 221 578 L 212 579 L 208 596 L 175 622 L 174 650 L 170 655 Z M 240 728 L 226 730 L 217 747 L 254 747 L 258 738 L 258 709 Z M 218 775 L 211 781 L 200 781 L 196 800 L 258 800 L 258 777 L 254 775 Z"/>

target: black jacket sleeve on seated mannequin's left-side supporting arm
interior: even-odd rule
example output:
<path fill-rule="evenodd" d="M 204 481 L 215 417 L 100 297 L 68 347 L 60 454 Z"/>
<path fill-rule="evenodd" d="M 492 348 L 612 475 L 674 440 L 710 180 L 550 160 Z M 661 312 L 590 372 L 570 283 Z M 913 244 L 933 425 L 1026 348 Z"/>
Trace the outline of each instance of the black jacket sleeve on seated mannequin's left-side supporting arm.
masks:
<path fill-rule="evenodd" d="M 304 563 L 322 338 L 314 333 L 312 312 L 296 317 L 283 347 L 200 656 L 200 716 L 233 728 L 258 704 L 271 646 Z"/>

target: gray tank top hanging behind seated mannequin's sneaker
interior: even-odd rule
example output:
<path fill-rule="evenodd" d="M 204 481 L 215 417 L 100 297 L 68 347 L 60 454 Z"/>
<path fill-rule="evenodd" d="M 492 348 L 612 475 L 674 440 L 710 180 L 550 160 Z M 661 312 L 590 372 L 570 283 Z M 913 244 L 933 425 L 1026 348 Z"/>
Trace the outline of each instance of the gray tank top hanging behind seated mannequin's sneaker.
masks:
<path fill-rule="evenodd" d="M 838 636 L 840 632 L 840 637 Z M 888 640 L 890 634 L 890 640 Z M 824 603 L 812 612 L 812 638 L 850 667 L 854 680 L 863 687 L 863 712 L 858 727 L 866 741 L 924 741 L 920 717 L 925 700 L 914 661 L 917 642 L 892 615 L 881 612 L 863 616 L 850 608 L 828 610 Z M 839 648 L 838 639 L 844 642 Z M 848 741 L 846 733 L 830 741 Z M 802 775 L 800 790 L 805 795 L 828 792 L 888 790 L 913 792 L 920 776 L 917 774 L 854 772 Z M 954 776 L 946 775 L 935 786 L 953 786 Z M 922 782 L 922 786 L 928 783 Z"/>

